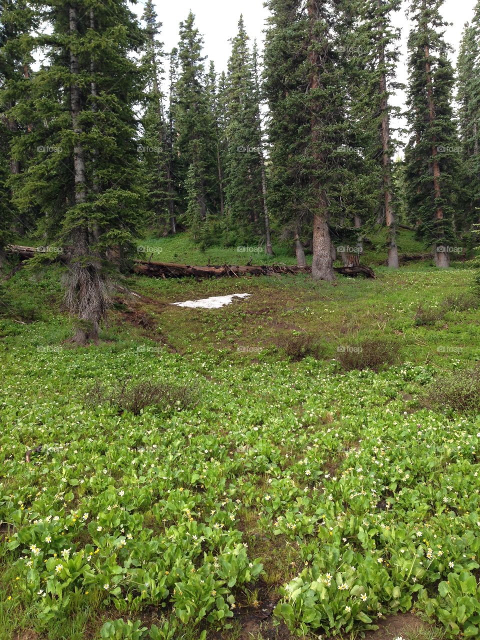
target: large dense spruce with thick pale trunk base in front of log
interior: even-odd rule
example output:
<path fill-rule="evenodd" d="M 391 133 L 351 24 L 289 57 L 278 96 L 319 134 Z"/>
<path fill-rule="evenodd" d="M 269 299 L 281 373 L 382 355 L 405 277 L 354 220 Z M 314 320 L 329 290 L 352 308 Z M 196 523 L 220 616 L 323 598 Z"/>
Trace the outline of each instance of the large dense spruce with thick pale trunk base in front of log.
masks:
<path fill-rule="evenodd" d="M 348 210 L 344 200 L 354 175 L 344 153 L 349 146 L 339 51 L 344 16 L 330 0 L 309 0 L 306 12 L 300 2 L 271 0 L 268 6 L 273 15 L 266 39 L 265 90 L 274 194 L 278 189 L 273 202 L 289 219 L 299 260 L 300 223 L 313 227 L 312 277 L 331 281 L 332 231 L 355 207 L 349 202 Z"/>

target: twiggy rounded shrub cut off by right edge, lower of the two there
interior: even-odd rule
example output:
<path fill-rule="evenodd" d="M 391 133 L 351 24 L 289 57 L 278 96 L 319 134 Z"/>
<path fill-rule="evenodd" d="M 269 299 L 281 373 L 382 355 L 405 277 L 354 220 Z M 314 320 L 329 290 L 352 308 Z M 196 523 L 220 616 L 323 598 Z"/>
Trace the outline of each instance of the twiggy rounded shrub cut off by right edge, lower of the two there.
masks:
<path fill-rule="evenodd" d="M 421 402 L 442 413 L 480 411 L 480 366 L 438 376 L 424 390 Z"/>

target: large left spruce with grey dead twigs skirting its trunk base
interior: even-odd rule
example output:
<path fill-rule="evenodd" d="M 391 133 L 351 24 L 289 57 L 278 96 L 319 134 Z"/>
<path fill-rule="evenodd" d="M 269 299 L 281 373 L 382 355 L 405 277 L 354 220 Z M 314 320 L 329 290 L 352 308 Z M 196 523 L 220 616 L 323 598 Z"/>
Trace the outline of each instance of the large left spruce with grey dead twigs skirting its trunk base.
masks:
<path fill-rule="evenodd" d="M 109 305 L 112 263 L 134 250 L 143 188 L 134 103 L 141 74 L 138 22 L 123 0 L 108 6 L 67 0 L 37 3 L 47 29 L 36 39 L 45 61 L 31 82 L 31 102 L 15 118 L 32 127 L 14 150 L 28 165 L 16 202 L 33 200 L 40 230 L 69 255 L 67 308 L 74 340 L 97 340 Z"/>

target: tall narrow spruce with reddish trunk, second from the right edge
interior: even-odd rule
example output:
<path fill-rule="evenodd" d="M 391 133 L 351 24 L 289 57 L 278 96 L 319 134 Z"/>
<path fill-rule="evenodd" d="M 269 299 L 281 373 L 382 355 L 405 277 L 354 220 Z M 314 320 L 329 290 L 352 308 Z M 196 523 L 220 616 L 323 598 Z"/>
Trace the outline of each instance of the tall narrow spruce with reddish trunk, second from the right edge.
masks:
<path fill-rule="evenodd" d="M 460 143 L 452 113 L 454 75 L 444 40 L 443 0 L 413 0 L 408 38 L 408 204 L 435 264 L 448 267 L 459 200 Z M 458 220 L 456 221 L 458 223 Z"/>

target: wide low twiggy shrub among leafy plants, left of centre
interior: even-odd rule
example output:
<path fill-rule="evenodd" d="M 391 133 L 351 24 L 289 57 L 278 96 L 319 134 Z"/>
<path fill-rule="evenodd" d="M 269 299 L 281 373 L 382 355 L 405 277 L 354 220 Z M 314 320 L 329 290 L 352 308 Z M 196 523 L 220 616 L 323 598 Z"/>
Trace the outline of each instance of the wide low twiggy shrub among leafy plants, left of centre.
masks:
<path fill-rule="evenodd" d="M 114 388 L 108 389 L 100 380 L 96 380 L 86 393 L 85 404 L 97 406 L 104 403 L 117 406 L 121 412 L 140 415 L 148 406 L 186 409 L 196 404 L 196 396 L 186 385 L 172 385 L 168 382 L 133 381 L 125 378 Z"/>

